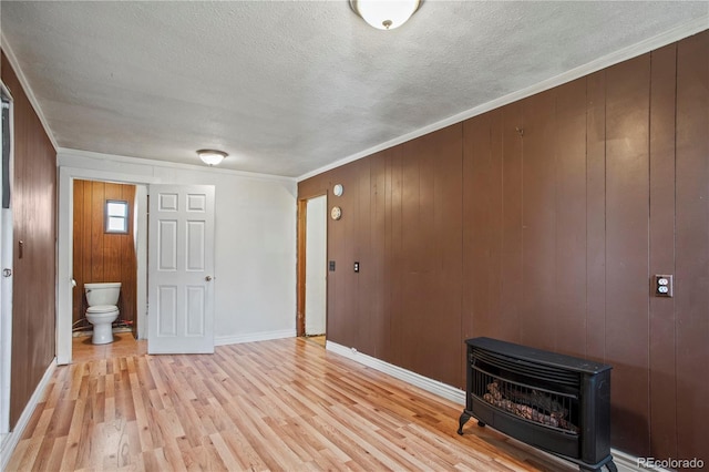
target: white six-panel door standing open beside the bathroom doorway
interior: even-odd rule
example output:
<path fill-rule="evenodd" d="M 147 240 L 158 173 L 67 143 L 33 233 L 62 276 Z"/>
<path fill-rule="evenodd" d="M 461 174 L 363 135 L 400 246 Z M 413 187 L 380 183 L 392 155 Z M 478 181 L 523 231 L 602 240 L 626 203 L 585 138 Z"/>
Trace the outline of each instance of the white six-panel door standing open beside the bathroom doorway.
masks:
<path fill-rule="evenodd" d="M 151 185 L 148 353 L 214 352 L 214 186 Z"/>

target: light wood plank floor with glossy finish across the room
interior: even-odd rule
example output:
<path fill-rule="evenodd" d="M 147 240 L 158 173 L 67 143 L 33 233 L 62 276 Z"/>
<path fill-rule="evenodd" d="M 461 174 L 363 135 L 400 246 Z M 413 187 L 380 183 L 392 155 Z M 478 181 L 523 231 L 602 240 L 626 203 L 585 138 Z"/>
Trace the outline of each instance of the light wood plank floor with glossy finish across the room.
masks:
<path fill-rule="evenodd" d="M 474 420 L 460 437 L 459 404 L 305 339 L 90 346 L 56 368 L 8 470 L 577 470 Z"/>

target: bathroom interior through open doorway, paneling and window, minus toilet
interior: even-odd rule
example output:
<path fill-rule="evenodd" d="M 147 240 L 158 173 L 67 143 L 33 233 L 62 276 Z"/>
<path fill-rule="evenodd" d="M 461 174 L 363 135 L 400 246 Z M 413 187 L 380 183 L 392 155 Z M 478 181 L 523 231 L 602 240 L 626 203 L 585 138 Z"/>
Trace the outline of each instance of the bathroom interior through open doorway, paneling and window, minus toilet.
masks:
<path fill-rule="evenodd" d="M 121 283 L 114 339 L 138 336 L 138 208 L 135 185 L 74 179 L 72 335 L 91 343 L 85 284 Z M 85 339 L 83 339 L 85 338 Z"/>

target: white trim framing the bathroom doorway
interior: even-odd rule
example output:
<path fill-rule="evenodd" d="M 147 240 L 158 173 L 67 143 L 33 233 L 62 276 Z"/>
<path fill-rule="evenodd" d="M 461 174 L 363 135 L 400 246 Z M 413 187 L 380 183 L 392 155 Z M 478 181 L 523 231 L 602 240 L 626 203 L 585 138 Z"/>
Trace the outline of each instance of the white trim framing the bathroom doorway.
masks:
<path fill-rule="evenodd" d="M 136 174 L 122 174 L 93 168 L 71 166 L 59 167 L 59 234 L 56 238 L 56 363 L 66 365 L 72 361 L 72 281 L 73 281 L 73 222 L 74 222 L 74 179 L 115 182 L 121 184 L 150 185 L 160 184 L 158 177 Z M 136 192 L 137 197 L 138 192 Z M 138 236 L 144 237 L 145 235 Z M 145 258 L 137 258 L 137 301 L 141 293 L 146 299 L 145 280 L 147 264 Z M 142 278 L 143 277 L 143 278 Z M 138 305 L 140 308 L 140 305 Z M 141 317 L 141 310 L 137 314 Z M 140 329 L 138 321 L 138 329 Z"/>

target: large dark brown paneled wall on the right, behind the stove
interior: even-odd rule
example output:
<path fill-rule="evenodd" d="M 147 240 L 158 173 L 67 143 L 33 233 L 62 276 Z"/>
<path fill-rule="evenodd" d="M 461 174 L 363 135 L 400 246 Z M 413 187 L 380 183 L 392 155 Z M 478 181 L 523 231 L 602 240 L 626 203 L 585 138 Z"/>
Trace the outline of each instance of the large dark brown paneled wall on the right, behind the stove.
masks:
<path fill-rule="evenodd" d="M 343 213 L 328 338 L 460 388 L 476 336 L 608 362 L 614 448 L 709 459 L 708 58 L 705 31 L 300 182 Z"/>

